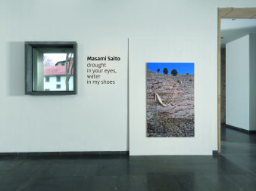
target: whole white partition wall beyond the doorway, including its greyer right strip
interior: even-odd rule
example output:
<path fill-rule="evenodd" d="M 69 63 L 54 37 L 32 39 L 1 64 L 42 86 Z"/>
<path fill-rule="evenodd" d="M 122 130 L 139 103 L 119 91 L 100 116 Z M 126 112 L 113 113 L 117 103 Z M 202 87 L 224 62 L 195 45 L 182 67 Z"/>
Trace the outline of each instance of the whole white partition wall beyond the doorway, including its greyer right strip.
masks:
<path fill-rule="evenodd" d="M 256 130 L 256 34 L 226 44 L 226 124 Z"/>

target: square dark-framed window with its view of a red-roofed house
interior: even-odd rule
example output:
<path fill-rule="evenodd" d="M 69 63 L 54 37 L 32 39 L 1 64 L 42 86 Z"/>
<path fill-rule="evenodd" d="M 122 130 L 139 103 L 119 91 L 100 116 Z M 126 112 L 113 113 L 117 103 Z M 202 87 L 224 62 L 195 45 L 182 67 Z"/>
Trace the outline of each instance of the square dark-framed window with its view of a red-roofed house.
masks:
<path fill-rule="evenodd" d="M 76 94 L 76 60 L 76 42 L 25 42 L 25 94 Z M 61 76 L 69 79 L 62 87 Z"/>

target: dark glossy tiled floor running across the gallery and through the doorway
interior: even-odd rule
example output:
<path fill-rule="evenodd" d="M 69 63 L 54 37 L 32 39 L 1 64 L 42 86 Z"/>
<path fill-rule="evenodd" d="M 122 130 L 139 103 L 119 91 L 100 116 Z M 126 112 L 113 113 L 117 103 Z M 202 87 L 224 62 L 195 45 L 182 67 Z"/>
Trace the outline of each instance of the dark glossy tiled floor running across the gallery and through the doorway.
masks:
<path fill-rule="evenodd" d="M 222 135 L 223 156 L 1 157 L 0 190 L 256 190 L 255 135 Z"/>

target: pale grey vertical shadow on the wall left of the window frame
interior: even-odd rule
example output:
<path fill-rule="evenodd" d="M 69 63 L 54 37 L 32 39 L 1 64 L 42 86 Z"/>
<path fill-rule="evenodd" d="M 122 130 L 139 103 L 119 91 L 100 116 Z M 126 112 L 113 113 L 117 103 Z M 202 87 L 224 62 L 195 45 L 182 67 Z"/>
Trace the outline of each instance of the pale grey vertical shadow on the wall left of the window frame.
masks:
<path fill-rule="evenodd" d="M 24 96 L 25 94 L 25 58 L 24 42 L 8 43 L 8 95 Z"/>

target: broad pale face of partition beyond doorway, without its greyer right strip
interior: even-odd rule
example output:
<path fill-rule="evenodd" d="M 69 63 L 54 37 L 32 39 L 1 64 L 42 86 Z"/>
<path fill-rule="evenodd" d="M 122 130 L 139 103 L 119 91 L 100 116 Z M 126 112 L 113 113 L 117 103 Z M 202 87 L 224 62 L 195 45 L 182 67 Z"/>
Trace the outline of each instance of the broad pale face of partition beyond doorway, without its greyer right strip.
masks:
<path fill-rule="evenodd" d="M 249 35 L 226 44 L 226 124 L 249 130 Z"/>

